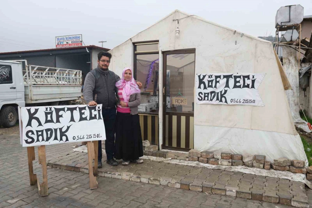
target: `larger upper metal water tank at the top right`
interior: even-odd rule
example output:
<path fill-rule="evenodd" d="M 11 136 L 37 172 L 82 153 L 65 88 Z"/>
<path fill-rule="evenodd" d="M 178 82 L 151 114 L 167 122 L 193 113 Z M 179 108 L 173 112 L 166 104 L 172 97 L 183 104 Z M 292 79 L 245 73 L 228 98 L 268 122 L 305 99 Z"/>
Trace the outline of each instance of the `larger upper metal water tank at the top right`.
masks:
<path fill-rule="evenodd" d="M 303 20 L 303 7 L 300 4 L 280 7 L 275 15 L 275 28 L 284 25 L 300 24 Z"/>

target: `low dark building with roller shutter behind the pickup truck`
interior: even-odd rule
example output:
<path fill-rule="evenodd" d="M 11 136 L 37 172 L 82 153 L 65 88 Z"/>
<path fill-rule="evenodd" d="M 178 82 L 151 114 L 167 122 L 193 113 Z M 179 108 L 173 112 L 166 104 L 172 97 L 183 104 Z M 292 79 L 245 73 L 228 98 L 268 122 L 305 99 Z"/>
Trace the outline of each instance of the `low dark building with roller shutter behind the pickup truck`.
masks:
<path fill-rule="evenodd" d="M 16 51 L 0 53 L 0 60 L 22 60 L 26 59 L 27 64 L 76 69 L 83 72 L 83 80 L 87 73 L 97 66 L 97 54 L 100 51 L 110 49 L 94 45 L 50 48 L 32 51 Z"/>

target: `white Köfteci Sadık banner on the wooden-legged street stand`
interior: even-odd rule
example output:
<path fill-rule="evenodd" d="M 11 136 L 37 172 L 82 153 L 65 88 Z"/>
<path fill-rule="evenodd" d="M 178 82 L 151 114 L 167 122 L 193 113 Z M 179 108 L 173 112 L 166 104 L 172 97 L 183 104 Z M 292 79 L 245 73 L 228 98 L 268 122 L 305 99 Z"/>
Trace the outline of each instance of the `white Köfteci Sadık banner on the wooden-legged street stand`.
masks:
<path fill-rule="evenodd" d="M 23 146 L 106 139 L 102 105 L 22 107 L 19 114 Z"/>

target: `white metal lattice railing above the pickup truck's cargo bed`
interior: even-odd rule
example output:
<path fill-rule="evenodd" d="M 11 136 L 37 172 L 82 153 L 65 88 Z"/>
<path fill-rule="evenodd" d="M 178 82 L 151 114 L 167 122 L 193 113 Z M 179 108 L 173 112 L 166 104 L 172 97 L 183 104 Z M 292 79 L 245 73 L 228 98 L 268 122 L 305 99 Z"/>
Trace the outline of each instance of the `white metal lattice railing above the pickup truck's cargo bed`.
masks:
<path fill-rule="evenodd" d="M 81 85 L 80 70 L 27 65 L 27 60 L 12 60 L 22 63 L 23 79 L 27 85 Z"/>

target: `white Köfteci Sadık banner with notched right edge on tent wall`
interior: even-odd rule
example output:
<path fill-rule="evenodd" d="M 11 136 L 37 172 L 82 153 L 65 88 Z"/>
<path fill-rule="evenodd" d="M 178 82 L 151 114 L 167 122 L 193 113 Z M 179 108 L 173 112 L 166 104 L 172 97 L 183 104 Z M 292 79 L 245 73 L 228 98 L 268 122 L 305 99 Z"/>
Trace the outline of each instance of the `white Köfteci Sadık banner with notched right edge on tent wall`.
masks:
<path fill-rule="evenodd" d="M 264 106 L 258 87 L 266 74 L 196 74 L 196 103 Z"/>

